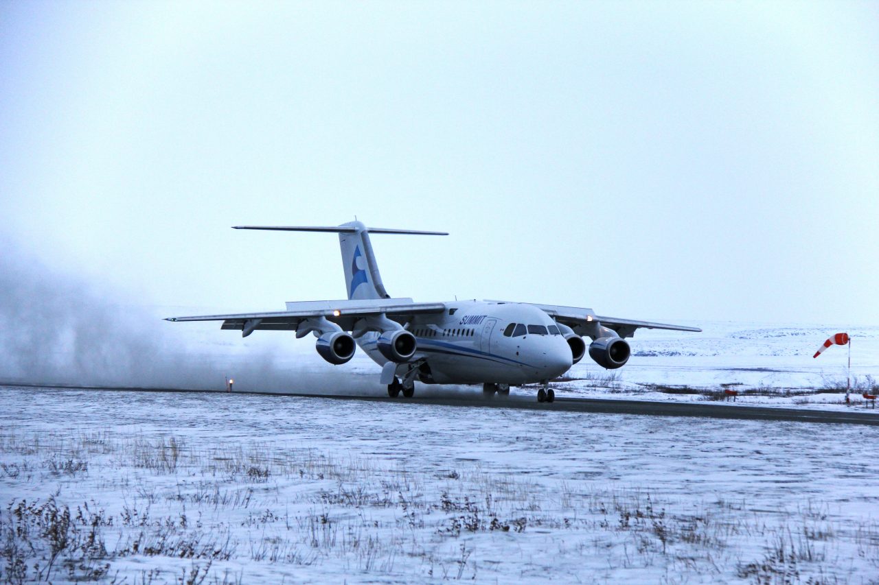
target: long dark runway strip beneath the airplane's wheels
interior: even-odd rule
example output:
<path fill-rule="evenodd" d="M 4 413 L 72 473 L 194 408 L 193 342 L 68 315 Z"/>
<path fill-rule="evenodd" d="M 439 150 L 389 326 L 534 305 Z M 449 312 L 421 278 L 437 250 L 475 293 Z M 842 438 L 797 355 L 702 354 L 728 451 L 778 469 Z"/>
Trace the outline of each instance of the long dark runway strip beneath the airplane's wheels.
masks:
<path fill-rule="evenodd" d="M 0 384 L 0 386 L 40 387 L 75 389 L 87 391 L 117 392 L 156 392 L 156 393 L 199 393 L 228 394 L 221 391 L 193 390 L 185 388 L 144 388 L 144 387 L 110 387 L 110 386 L 46 386 L 30 384 Z M 486 398 L 474 392 L 473 397 L 464 396 L 418 396 L 412 398 L 389 398 L 365 394 L 314 394 L 300 392 L 242 392 L 232 394 L 254 394 L 277 396 L 279 398 L 308 398 L 328 401 L 368 401 L 387 402 L 389 405 L 431 405 L 469 408 L 511 408 L 517 410 L 541 410 L 556 412 L 600 413 L 614 415 L 651 415 L 651 416 L 693 416 L 707 418 L 726 418 L 762 421 L 791 421 L 796 423 L 838 423 L 866 424 L 879 426 L 879 410 L 867 408 L 849 408 L 842 411 L 818 410 L 814 408 L 775 408 L 755 406 L 745 403 L 717 402 L 676 402 L 676 401 L 633 401 L 591 398 L 556 397 L 556 401 L 538 402 L 534 395 L 511 394 L 495 395 Z"/>

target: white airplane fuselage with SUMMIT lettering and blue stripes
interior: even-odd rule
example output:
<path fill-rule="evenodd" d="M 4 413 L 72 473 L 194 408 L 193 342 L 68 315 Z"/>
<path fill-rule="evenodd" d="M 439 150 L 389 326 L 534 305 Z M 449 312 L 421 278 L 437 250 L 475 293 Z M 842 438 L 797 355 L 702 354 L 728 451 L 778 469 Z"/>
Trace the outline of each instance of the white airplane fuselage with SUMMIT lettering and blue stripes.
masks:
<path fill-rule="evenodd" d="M 545 382 L 570 369 L 570 346 L 557 329 L 550 333 L 556 322 L 540 309 L 476 300 L 446 304 L 442 314 L 416 316 L 405 327 L 418 341 L 417 356 L 429 363 L 420 381 L 520 385 Z M 526 331 L 530 325 L 533 332 L 505 336 L 510 324 L 522 324 Z M 389 360 L 377 348 L 378 336 L 367 333 L 357 344 L 383 366 Z"/>

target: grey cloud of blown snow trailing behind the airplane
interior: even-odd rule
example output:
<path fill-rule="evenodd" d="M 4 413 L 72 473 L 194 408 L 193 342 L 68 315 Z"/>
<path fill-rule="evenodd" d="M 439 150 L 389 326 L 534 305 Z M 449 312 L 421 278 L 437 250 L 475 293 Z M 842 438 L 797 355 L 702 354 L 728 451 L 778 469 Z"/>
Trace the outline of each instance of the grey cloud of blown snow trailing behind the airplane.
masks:
<path fill-rule="evenodd" d="M 54 273 L 0 239 L 0 381 L 73 386 L 216 389 L 233 372 L 236 389 L 348 394 L 380 389 L 351 372 L 276 365 L 271 350 L 229 356 L 192 350 L 191 332 L 124 295 Z"/>

